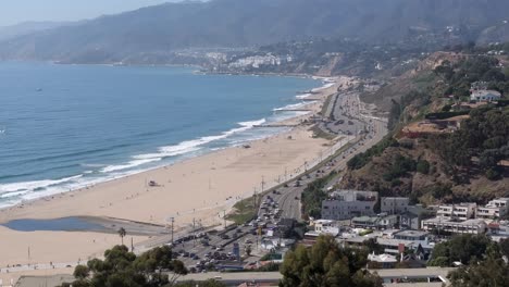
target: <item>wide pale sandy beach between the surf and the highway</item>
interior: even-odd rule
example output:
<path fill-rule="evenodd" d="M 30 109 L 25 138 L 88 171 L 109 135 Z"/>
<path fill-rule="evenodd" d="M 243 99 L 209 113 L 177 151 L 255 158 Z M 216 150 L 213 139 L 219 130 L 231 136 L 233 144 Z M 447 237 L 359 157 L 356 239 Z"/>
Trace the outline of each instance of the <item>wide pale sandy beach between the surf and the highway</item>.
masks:
<path fill-rule="evenodd" d="M 296 124 L 321 110 L 326 97 L 348 78 L 342 77 L 312 95 L 313 112 L 286 124 Z M 24 202 L 0 211 L 0 223 L 16 219 L 108 216 L 186 228 L 195 220 L 201 226 L 218 225 L 233 204 L 303 172 L 303 165 L 323 157 L 331 142 L 313 138 L 309 126 L 233 147 L 140 174 L 119 178 L 82 190 Z M 157 186 L 147 183 L 153 180 Z M 262 184 L 263 182 L 263 184 Z M 131 241 L 131 235 L 125 238 Z M 0 227 L 0 267 L 8 264 L 75 262 L 100 257 L 120 244 L 115 234 L 34 232 L 20 233 Z M 135 236 L 135 244 L 148 237 Z M 27 249 L 30 248 L 30 258 Z M 52 271 L 57 272 L 58 271 Z M 60 273 L 65 272 L 61 270 Z M 72 272 L 67 270 L 65 273 Z M 5 279 L 1 274 L 0 278 Z M 13 276 L 13 275 L 11 275 Z"/>

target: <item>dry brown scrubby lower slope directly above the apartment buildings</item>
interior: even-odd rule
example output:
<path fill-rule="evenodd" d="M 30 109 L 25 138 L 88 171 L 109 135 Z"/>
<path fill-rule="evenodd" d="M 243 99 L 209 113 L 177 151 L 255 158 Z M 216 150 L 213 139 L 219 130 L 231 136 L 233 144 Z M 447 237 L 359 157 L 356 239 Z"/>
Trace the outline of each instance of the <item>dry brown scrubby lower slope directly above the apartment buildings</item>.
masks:
<path fill-rule="evenodd" d="M 482 173 L 472 171 L 470 180 L 457 183 L 454 172 L 447 169 L 447 164 L 438 154 L 427 148 L 426 140 L 412 140 L 412 142 L 414 144 L 412 148 L 389 147 L 362 169 L 348 171 L 340 187 L 376 190 L 382 196 L 410 197 L 414 201 L 427 204 L 458 200 L 486 202 L 495 197 L 509 196 L 508 177 L 489 180 Z M 429 162 L 429 173 L 413 171 L 397 179 L 387 180 L 384 175 L 394 167 L 398 155 Z"/>

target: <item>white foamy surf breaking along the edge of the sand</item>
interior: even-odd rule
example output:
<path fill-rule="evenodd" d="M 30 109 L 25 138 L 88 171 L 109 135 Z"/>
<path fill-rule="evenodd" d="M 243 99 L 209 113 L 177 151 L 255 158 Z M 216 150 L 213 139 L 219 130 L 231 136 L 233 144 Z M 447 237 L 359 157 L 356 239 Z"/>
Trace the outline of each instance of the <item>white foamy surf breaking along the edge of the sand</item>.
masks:
<path fill-rule="evenodd" d="M 52 63 L 52 64 L 57 64 L 57 63 Z M 103 64 L 100 64 L 100 65 L 103 65 Z M 247 76 L 250 76 L 250 75 L 247 75 Z M 321 90 L 324 86 L 330 84 L 330 82 L 327 82 L 327 80 L 331 79 L 331 78 L 324 78 L 324 77 L 309 76 L 309 78 L 311 78 L 311 77 L 313 79 L 322 82 L 321 86 L 319 86 L 316 88 L 313 88 L 312 90 L 315 90 L 315 89 Z M 313 101 L 316 101 L 316 100 L 318 99 L 313 99 Z M 161 167 L 164 167 L 164 166 L 172 166 L 172 165 L 174 165 L 176 163 L 187 161 L 189 159 L 194 159 L 194 158 L 197 158 L 197 157 L 202 157 L 202 155 L 213 153 L 213 152 L 216 152 L 216 151 L 221 151 L 221 150 L 224 150 L 224 149 L 228 149 L 228 148 L 238 147 L 238 146 L 241 146 L 241 145 L 245 145 L 245 144 L 249 144 L 250 141 L 258 140 L 259 138 L 244 139 L 241 142 L 238 142 L 238 144 L 235 144 L 235 145 L 223 146 L 223 147 L 220 147 L 220 148 L 216 148 L 216 149 L 211 149 L 211 150 L 208 149 L 208 147 L 207 147 L 207 145 L 209 145 L 210 142 L 213 142 L 213 141 L 215 141 L 218 139 L 222 139 L 222 138 L 219 138 L 219 137 L 226 138 L 226 137 L 229 137 L 229 136 L 233 136 L 233 135 L 238 135 L 239 133 L 244 133 L 244 132 L 247 132 L 247 130 L 259 128 L 261 126 L 291 128 L 295 125 L 287 125 L 287 124 L 284 124 L 284 123 L 291 122 L 294 118 L 300 118 L 300 117 L 307 116 L 308 113 L 310 113 L 312 111 L 308 112 L 305 115 L 302 115 L 302 114 L 293 114 L 293 115 L 286 115 L 286 116 L 282 115 L 281 116 L 281 117 L 283 117 L 282 120 L 276 120 L 276 118 L 271 118 L 271 117 L 273 117 L 273 116 L 275 117 L 275 115 L 278 114 L 278 113 L 281 113 L 281 114 L 284 114 L 285 112 L 286 113 L 290 113 L 290 112 L 297 113 L 297 111 L 289 110 L 289 107 L 291 107 L 291 105 L 295 105 L 295 107 L 298 105 L 299 109 L 302 109 L 302 110 L 306 109 L 307 110 L 308 107 L 312 105 L 313 103 L 314 102 L 307 102 L 305 99 L 301 99 L 298 96 L 295 96 L 294 101 L 291 103 L 283 105 L 283 107 L 274 108 L 272 110 L 271 115 L 265 116 L 265 117 L 263 117 L 261 120 L 259 118 L 259 120 L 249 120 L 249 121 L 246 121 L 246 122 L 239 122 L 239 123 L 236 123 L 234 127 L 232 127 L 231 129 L 227 129 L 225 132 L 220 132 L 220 133 L 213 134 L 213 135 L 203 135 L 201 137 L 196 137 L 196 138 L 191 138 L 191 139 L 185 139 L 185 140 L 182 140 L 179 142 L 176 142 L 175 145 L 169 146 L 169 147 L 178 147 L 182 144 L 187 144 L 187 142 L 193 142 L 193 141 L 200 141 L 200 140 L 204 140 L 204 139 L 209 140 L 208 138 L 216 138 L 216 139 L 212 139 L 212 140 L 207 141 L 207 142 L 196 144 L 197 148 L 203 149 L 202 152 L 198 152 L 198 154 L 191 154 L 196 150 L 189 150 L 189 151 L 182 151 L 182 153 L 181 153 L 181 151 L 178 151 L 179 153 L 166 155 L 166 154 L 163 154 L 163 152 L 160 151 L 160 149 L 165 147 L 164 145 L 162 145 L 161 147 L 156 147 L 154 148 L 156 151 L 153 151 L 151 153 L 151 154 L 161 153 L 159 160 L 157 160 L 154 158 L 154 159 L 150 159 L 151 162 L 147 161 L 146 163 L 140 163 L 140 164 L 137 164 L 137 165 L 121 169 L 123 166 L 129 165 L 134 161 L 141 161 L 141 160 L 136 159 L 136 157 L 146 155 L 146 154 L 136 154 L 136 155 L 132 155 L 131 158 L 127 157 L 125 159 L 125 161 L 123 161 L 123 162 L 107 164 L 103 167 L 103 170 L 104 169 L 114 169 L 114 170 L 104 171 L 104 174 L 100 175 L 98 177 L 88 176 L 89 172 L 84 170 L 82 172 L 78 172 L 76 174 L 65 176 L 65 177 L 62 177 L 62 178 L 44 179 L 41 182 L 48 180 L 48 182 L 54 182 L 54 184 L 51 184 L 51 185 L 48 185 L 48 186 L 36 187 L 33 190 L 30 190 L 29 188 L 27 188 L 27 190 L 24 190 L 24 189 L 20 188 L 17 190 L 12 189 L 12 190 L 5 191 L 3 195 L 13 195 L 13 198 L 15 198 L 17 195 L 26 196 L 26 198 L 14 199 L 14 200 L 12 200 L 12 202 L 10 202 L 10 200 L 5 200 L 4 203 L 3 202 L 1 203 L 0 211 L 3 210 L 3 209 L 9 209 L 9 208 L 12 208 L 12 207 L 16 207 L 16 205 L 27 204 L 27 203 L 30 203 L 30 202 L 34 202 L 34 201 L 37 201 L 37 200 L 48 199 L 48 198 L 59 196 L 59 195 L 62 195 L 62 194 L 66 194 L 66 192 L 72 192 L 72 191 L 76 191 L 76 190 L 85 191 L 88 188 L 91 188 L 94 186 L 97 186 L 97 185 L 100 185 L 100 184 L 103 184 L 103 183 L 114 182 L 114 180 L 125 178 L 125 177 L 128 177 L 128 176 L 133 176 L 133 175 L 136 175 L 136 174 L 158 170 L 158 169 L 161 169 Z M 260 122 L 260 121 L 264 121 L 264 123 L 259 125 L 257 122 Z M 280 125 L 281 123 L 283 123 L 283 124 Z M 282 134 L 282 133 L 285 133 L 285 130 L 277 130 L 277 132 L 274 132 L 274 133 L 270 133 L 270 135 L 263 135 L 261 138 L 262 139 L 263 138 L 270 138 L 273 135 L 277 135 L 277 134 Z M 190 147 L 190 148 L 193 148 L 193 147 Z M 161 161 L 162 163 L 158 164 L 158 161 Z M 146 166 L 142 166 L 142 165 L 146 165 Z M 138 166 L 142 166 L 142 167 L 138 169 Z M 85 180 L 83 180 L 83 183 L 82 183 L 80 179 L 85 179 Z M 24 184 L 24 183 L 30 183 L 30 180 L 7 183 L 4 185 L 5 186 L 20 185 L 20 184 Z M 47 190 L 45 190 L 45 189 L 47 189 Z M 39 191 L 40 191 L 41 195 L 37 195 Z"/>

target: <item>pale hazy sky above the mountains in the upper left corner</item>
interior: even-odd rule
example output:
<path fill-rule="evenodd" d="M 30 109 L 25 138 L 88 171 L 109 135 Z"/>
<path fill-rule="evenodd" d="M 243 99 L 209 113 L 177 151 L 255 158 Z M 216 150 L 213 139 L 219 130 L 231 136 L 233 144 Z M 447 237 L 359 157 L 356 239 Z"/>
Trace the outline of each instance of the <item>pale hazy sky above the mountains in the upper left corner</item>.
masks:
<path fill-rule="evenodd" d="M 25 21 L 75 21 L 176 0 L 0 0 L 0 26 Z"/>

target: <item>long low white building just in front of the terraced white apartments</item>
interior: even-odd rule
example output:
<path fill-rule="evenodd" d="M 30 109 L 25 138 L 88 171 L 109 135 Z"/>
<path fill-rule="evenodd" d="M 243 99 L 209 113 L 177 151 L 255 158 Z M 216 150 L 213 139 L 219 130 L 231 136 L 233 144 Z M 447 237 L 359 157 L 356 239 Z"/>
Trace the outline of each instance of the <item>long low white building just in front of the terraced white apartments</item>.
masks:
<path fill-rule="evenodd" d="M 439 230 L 451 234 L 484 234 L 487 225 L 483 220 L 458 221 L 438 216 L 422 221 L 422 229 Z"/>

